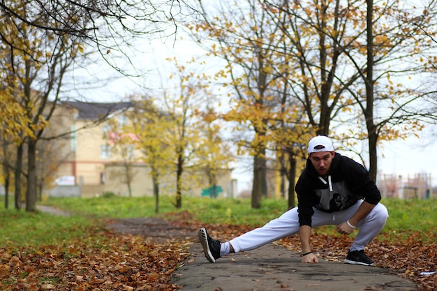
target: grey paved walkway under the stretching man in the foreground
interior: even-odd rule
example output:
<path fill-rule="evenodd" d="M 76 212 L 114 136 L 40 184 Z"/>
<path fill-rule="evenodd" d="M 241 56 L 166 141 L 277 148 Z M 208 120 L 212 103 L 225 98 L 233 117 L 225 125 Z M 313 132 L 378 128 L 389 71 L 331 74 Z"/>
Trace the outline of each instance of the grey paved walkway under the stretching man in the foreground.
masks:
<path fill-rule="evenodd" d="M 191 246 L 191 258 L 172 283 L 181 291 L 360 291 L 415 290 L 413 281 L 391 269 L 327 262 L 302 264 L 299 253 L 268 244 L 254 251 L 207 261 L 200 244 Z"/>

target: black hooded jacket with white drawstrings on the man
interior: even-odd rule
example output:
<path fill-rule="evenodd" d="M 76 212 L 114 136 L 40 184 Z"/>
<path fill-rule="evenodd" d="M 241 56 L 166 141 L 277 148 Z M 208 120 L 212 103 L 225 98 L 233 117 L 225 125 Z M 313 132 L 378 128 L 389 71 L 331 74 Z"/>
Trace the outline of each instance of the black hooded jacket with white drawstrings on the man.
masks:
<path fill-rule="evenodd" d="M 299 225 L 311 226 L 313 207 L 325 212 L 348 209 L 358 200 L 378 204 L 381 194 L 369 172 L 351 158 L 335 153 L 327 177 L 320 177 L 310 159 L 296 184 Z"/>

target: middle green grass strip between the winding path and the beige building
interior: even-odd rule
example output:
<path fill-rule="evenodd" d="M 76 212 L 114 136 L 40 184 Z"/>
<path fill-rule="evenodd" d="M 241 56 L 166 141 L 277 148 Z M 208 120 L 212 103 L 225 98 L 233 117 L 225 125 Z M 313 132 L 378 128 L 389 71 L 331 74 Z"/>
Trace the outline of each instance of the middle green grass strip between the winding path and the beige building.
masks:
<path fill-rule="evenodd" d="M 188 211 L 205 223 L 232 223 L 260 225 L 266 219 L 279 216 L 286 210 L 286 200 L 267 199 L 261 209 L 252 209 L 247 199 L 210 199 L 209 197 L 183 197 L 182 209 L 174 206 L 174 197 L 160 198 L 159 213 Z M 94 218 L 132 218 L 155 216 L 155 200 L 152 197 L 95 197 L 56 198 L 43 204 L 70 211 L 76 215 Z"/>

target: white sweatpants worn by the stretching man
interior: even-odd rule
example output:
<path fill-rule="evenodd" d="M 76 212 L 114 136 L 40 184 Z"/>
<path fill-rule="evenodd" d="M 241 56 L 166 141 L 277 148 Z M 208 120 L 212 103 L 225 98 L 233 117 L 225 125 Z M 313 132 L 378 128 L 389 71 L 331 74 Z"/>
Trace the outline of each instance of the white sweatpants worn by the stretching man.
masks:
<path fill-rule="evenodd" d="M 312 227 L 315 228 L 321 225 L 339 225 L 352 217 L 362 202 L 363 200 L 359 200 L 352 207 L 334 213 L 327 213 L 314 208 Z M 269 221 L 269 223 L 264 226 L 246 232 L 229 242 L 232 244 L 235 253 L 238 253 L 240 251 L 250 251 L 272 241 L 282 239 L 283 237 L 297 234 L 299 232 L 299 218 L 297 215 L 297 207 L 295 207 L 286 211 L 286 213 L 279 216 L 279 218 Z M 383 204 L 376 204 L 370 213 L 357 223 L 359 231 L 353 241 L 350 251 L 364 250 L 364 247 L 367 246 L 381 230 L 383 230 L 387 218 L 387 208 L 385 208 Z"/>

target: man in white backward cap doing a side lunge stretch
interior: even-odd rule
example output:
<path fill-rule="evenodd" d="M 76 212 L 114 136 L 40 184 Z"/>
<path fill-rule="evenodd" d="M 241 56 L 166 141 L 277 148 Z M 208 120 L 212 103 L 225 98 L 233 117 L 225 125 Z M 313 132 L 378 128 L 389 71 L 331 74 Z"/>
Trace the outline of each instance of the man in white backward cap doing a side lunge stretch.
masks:
<path fill-rule="evenodd" d="M 302 262 L 317 263 L 318 258 L 311 251 L 311 229 L 336 225 L 341 234 L 359 229 L 345 262 L 375 265 L 364 253 L 364 248 L 383 230 L 388 212 L 379 203 L 380 191 L 362 165 L 335 153 L 331 140 L 318 135 L 309 141 L 306 168 L 295 191 L 297 207 L 223 244 L 201 228 L 198 237 L 207 260 L 216 262 L 229 253 L 250 251 L 299 233 Z"/>

